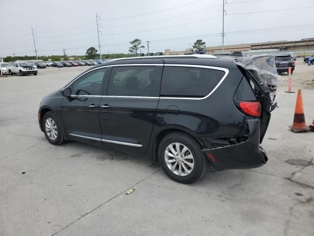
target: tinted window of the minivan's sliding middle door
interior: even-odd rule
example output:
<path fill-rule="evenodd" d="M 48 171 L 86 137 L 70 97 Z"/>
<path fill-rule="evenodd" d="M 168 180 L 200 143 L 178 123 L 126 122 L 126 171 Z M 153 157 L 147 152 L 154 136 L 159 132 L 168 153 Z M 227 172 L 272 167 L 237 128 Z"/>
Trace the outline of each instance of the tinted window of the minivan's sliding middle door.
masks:
<path fill-rule="evenodd" d="M 161 66 L 112 67 L 107 95 L 159 96 Z"/>

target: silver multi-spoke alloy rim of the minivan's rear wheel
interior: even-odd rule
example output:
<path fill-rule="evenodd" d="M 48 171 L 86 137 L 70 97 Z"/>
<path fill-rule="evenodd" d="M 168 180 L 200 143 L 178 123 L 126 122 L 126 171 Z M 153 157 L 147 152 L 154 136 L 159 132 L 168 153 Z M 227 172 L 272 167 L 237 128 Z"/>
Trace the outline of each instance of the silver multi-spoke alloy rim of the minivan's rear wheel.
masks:
<path fill-rule="evenodd" d="M 164 158 L 169 170 L 177 176 L 187 176 L 194 169 L 192 152 L 180 143 L 172 143 L 165 149 Z"/>

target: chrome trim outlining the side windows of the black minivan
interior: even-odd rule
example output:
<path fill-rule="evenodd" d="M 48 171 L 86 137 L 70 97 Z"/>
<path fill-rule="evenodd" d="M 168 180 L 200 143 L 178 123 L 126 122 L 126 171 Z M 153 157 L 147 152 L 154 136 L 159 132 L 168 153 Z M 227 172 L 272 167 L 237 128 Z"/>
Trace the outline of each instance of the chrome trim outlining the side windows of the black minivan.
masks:
<path fill-rule="evenodd" d="M 214 91 L 218 89 L 218 87 L 222 84 L 222 82 L 226 79 L 226 77 L 229 74 L 229 69 L 224 67 L 217 67 L 217 66 L 210 66 L 210 65 L 193 65 L 193 64 L 117 64 L 117 65 L 105 65 L 102 67 L 97 67 L 92 70 L 89 70 L 85 72 L 84 74 L 80 75 L 78 78 L 76 78 L 74 81 L 72 81 L 69 85 L 66 87 L 69 87 L 71 84 L 73 84 L 76 80 L 78 80 L 81 76 L 85 75 L 86 73 L 105 68 L 105 67 L 114 67 L 114 66 L 180 66 L 180 67 L 195 67 L 195 68 L 204 68 L 204 69 L 213 69 L 213 70 L 221 70 L 224 71 L 225 74 L 221 78 L 221 80 L 218 82 L 218 84 L 204 97 L 145 97 L 145 96 L 107 96 L 107 95 L 71 95 L 71 97 L 115 97 L 115 98 L 147 98 L 147 99 L 177 99 L 177 100 L 204 100 L 208 98 Z"/>

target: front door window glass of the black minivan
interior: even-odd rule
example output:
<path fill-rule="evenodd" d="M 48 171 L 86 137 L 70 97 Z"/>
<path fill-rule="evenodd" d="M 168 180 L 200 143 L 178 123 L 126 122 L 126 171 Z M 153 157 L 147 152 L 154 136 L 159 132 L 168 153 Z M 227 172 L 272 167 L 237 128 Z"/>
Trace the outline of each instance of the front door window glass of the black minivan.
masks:
<path fill-rule="evenodd" d="M 100 95 L 106 68 L 93 70 L 73 83 L 73 95 Z"/>

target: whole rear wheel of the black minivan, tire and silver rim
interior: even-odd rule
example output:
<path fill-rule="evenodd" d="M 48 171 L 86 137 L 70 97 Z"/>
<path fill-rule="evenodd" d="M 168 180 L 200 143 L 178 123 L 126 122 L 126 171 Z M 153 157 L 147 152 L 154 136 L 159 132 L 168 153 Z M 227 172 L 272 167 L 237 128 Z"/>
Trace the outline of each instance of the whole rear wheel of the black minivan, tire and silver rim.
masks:
<path fill-rule="evenodd" d="M 159 163 L 166 175 L 180 183 L 193 183 L 201 178 L 208 161 L 200 144 L 183 132 L 168 134 L 158 148 Z"/>

